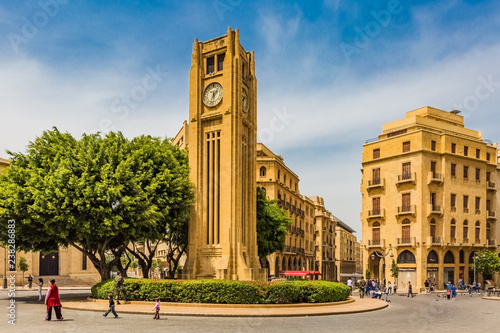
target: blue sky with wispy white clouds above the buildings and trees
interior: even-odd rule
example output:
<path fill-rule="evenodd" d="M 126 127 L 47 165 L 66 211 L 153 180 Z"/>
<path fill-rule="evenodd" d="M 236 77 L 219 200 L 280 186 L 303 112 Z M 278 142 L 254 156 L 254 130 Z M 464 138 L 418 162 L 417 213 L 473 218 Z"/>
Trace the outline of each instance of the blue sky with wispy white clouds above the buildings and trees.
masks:
<path fill-rule="evenodd" d="M 499 2 L 5 0 L 0 157 L 52 126 L 174 136 L 192 43 L 229 26 L 255 51 L 259 141 L 358 237 L 362 146 L 382 124 L 460 109 L 500 141 Z M 126 104 L 152 72 L 154 88 Z"/>

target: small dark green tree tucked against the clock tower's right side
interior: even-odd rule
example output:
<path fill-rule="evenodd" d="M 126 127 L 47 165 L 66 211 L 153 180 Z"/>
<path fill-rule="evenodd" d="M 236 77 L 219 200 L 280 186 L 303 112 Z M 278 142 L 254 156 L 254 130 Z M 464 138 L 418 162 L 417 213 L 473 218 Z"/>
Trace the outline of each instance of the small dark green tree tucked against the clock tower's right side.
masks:
<path fill-rule="evenodd" d="M 259 258 L 285 248 L 287 227 L 292 223 L 277 200 L 267 200 L 266 190 L 257 187 L 257 247 Z"/>

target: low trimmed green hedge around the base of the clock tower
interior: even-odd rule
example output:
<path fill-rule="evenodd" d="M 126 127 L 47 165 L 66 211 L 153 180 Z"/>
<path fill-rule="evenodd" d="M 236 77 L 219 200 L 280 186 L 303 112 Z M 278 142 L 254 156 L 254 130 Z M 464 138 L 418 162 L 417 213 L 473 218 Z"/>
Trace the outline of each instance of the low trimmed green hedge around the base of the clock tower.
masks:
<path fill-rule="evenodd" d="M 227 280 L 151 280 L 125 278 L 127 300 L 181 303 L 290 304 L 345 301 L 350 289 L 329 281 L 244 282 Z M 114 294 L 114 280 L 92 287 L 92 297 Z"/>

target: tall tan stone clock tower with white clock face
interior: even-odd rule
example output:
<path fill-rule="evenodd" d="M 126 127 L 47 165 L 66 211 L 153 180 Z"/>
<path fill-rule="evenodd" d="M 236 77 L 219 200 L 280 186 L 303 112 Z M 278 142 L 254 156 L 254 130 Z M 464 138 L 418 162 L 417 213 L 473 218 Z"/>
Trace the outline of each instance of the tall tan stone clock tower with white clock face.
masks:
<path fill-rule="evenodd" d="M 261 280 L 257 256 L 257 80 L 238 30 L 193 45 L 189 164 L 196 203 L 185 278 Z"/>

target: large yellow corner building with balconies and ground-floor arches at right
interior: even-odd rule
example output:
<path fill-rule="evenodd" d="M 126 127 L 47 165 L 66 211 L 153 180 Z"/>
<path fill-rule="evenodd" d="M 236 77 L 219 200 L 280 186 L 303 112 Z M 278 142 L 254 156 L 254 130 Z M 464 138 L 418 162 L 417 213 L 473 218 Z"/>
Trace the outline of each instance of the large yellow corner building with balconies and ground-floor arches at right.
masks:
<path fill-rule="evenodd" d="M 394 256 L 399 290 L 473 282 L 474 252 L 496 249 L 497 145 L 458 113 L 407 112 L 363 146 L 364 270 L 393 282 Z"/>

